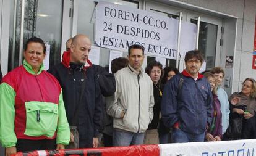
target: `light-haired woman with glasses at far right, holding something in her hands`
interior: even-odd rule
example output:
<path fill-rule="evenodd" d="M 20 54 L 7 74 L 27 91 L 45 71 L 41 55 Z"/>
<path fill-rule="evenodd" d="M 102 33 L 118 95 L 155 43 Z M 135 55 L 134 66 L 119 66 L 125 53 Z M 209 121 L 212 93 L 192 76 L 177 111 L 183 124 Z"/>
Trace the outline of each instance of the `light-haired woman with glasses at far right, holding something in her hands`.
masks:
<path fill-rule="evenodd" d="M 229 97 L 230 112 L 229 128 L 224 134 L 225 140 L 236 140 L 250 138 L 256 131 L 251 131 L 250 123 L 254 122 L 256 111 L 256 81 L 246 78 L 242 83 L 242 91 L 234 92 Z M 237 99 L 234 102 L 234 99 Z"/>

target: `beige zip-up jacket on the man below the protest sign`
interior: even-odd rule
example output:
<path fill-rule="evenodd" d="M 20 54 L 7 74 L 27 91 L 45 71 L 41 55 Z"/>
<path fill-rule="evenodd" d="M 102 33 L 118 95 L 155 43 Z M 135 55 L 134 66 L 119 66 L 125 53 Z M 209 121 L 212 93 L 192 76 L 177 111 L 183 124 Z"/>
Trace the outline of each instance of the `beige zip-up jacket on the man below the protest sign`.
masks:
<path fill-rule="evenodd" d="M 130 65 L 116 73 L 116 92 L 106 99 L 107 113 L 114 118 L 113 127 L 133 133 L 144 133 L 153 119 L 153 82 L 141 69 Z M 122 110 L 125 112 L 121 117 Z"/>

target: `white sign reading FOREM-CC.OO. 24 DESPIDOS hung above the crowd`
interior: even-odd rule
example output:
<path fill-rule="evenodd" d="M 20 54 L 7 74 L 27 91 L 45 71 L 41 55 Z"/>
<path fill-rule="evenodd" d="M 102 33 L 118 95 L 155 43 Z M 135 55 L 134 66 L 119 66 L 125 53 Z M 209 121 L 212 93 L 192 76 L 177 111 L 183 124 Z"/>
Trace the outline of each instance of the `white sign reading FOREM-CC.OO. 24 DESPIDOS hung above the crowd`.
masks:
<path fill-rule="evenodd" d="M 176 59 L 178 25 L 173 18 L 100 1 L 96 6 L 95 42 L 120 51 L 140 44 L 147 55 Z"/>

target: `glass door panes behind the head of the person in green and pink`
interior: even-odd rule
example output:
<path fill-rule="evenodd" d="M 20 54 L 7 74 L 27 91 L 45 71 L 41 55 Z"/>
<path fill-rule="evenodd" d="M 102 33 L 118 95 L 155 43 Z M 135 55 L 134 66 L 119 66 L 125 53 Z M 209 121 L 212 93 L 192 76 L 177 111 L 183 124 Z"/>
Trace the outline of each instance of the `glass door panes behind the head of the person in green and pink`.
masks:
<path fill-rule="evenodd" d="M 22 2 L 25 2 L 24 7 Z M 20 44 L 25 44 L 32 36 L 43 39 L 48 45 L 49 67 L 60 62 L 62 4 L 63 0 L 11 1 L 8 71 L 19 66 L 20 60 L 23 59 Z M 20 39 L 20 36 L 23 38 Z"/>

